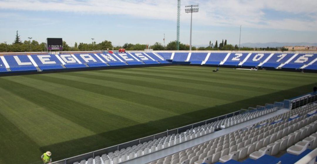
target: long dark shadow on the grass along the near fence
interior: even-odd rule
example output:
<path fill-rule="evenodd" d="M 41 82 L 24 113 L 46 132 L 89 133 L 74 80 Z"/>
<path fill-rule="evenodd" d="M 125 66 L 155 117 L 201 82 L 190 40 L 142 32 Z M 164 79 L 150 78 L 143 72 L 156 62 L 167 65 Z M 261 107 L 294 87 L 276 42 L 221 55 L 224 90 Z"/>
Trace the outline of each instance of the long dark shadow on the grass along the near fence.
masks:
<path fill-rule="evenodd" d="M 125 143 L 141 137 L 146 137 L 152 134 L 165 131 L 166 129 L 173 129 L 179 126 L 184 126 L 191 123 L 203 121 L 205 119 L 217 117 L 226 113 L 237 111 L 241 108 L 247 109 L 248 107 L 255 107 L 256 105 L 264 105 L 265 103 L 274 103 L 275 101 L 290 99 L 292 97 L 311 92 L 311 89 L 316 84 L 317 83 L 304 85 L 301 87 L 283 90 L 272 94 L 257 96 L 225 105 L 201 109 L 195 112 L 189 112 L 170 118 L 150 121 L 145 124 L 134 125 L 126 128 L 117 129 L 114 131 L 107 131 L 93 136 L 47 145 L 41 147 L 40 150 L 42 152 L 50 150 L 52 153 L 54 153 L 54 160 L 57 161 L 71 156 L 80 155 L 94 150 L 110 147 L 116 144 Z M 184 116 L 193 117 L 194 119 L 186 120 L 184 119 Z M 155 125 L 166 123 L 168 123 L 171 126 L 166 127 L 166 129 L 159 130 L 148 129 L 148 127 L 155 127 Z M 118 124 L 120 124 L 120 122 L 118 122 Z M 138 131 L 133 131 L 134 129 L 138 129 Z M 126 132 L 129 133 L 127 134 Z"/>

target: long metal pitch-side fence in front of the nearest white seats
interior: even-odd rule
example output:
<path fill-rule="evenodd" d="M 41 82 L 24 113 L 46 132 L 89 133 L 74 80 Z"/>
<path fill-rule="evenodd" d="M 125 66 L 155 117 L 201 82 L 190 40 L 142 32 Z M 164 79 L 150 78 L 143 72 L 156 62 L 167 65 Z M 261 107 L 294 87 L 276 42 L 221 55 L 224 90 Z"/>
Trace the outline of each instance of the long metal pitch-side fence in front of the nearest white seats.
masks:
<path fill-rule="evenodd" d="M 89 158 L 94 158 L 96 156 L 101 156 L 103 154 L 108 154 L 108 153 L 114 152 L 116 150 L 126 149 L 128 147 L 132 147 L 133 145 L 138 145 L 139 143 L 144 143 L 144 142 L 152 141 L 154 139 L 158 139 L 158 138 L 165 137 L 165 136 L 168 136 L 168 135 L 185 132 L 187 130 L 190 130 L 191 128 L 195 128 L 195 127 L 198 127 L 198 126 L 201 126 L 201 125 L 209 124 L 209 123 L 212 123 L 212 122 L 224 119 L 224 118 L 232 117 L 232 116 L 235 116 L 235 115 L 238 115 L 238 114 L 240 114 L 240 111 L 232 112 L 232 113 L 225 114 L 225 115 L 222 115 L 222 116 L 218 116 L 218 117 L 215 117 L 215 118 L 210 118 L 210 119 L 207 119 L 207 120 L 204 120 L 204 121 L 200 121 L 200 122 L 197 122 L 197 123 L 194 123 L 194 124 L 191 124 L 191 125 L 186 125 L 186 126 L 183 126 L 183 127 L 180 127 L 180 128 L 167 130 L 165 132 L 161 132 L 161 133 L 158 133 L 158 134 L 155 134 L 155 135 L 152 135 L 152 136 L 140 138 L 140 139 L 137 139 L 137 140 L 126 142 L 126 143 L 121 143 L 119 145 L 111 146 L 111 147 L 108 147 L 108 148 L 105 148 L 105 149 L 100 149 L 100 150 L 96 150 L 96 151 L 89 152 L 89 153 L 86 153 L 86 154 L 82 154 L 82 155 L 74 156 L 74 157 L 71 157 L 71 158 L 67 158 L 67 159 L 64 159 L 64 160 L 52 162 L 52 164 L 73 164 L 74 162 L 79 162 L 81 160 L 87 160 Z"/>

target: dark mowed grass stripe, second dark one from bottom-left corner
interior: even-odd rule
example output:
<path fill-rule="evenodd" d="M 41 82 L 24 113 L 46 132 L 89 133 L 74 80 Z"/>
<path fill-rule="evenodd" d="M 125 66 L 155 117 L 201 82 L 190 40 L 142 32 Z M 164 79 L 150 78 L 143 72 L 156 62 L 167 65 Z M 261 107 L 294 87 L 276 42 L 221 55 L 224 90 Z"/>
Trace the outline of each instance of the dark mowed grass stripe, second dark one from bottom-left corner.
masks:
<path fill-rule="evenodd" d="M 24 97 L 26 100 L 32 101 L 33 103 L 39 104 L 45 107 L 46 110 L 54 112 L 55 114 L 69 119 L 72 122 L 96 133 L 99 133 L 100 129 L 107 131 L 122 126 L 139 124 L 136 121 L 132 121 L 34 87 L 14 82 L 13 80 L 0 79 L 0 86 L 3 89 L 12 88 L 12 85 L 14 85 L 15 89 L 10 90 L 11 93 Z M 46 99 L 45 97 L 49 97 L 49 99 Z M 109 122 L 116 122 L 118 120 L 120 120 L 120 125 L 107 126 Z"/>

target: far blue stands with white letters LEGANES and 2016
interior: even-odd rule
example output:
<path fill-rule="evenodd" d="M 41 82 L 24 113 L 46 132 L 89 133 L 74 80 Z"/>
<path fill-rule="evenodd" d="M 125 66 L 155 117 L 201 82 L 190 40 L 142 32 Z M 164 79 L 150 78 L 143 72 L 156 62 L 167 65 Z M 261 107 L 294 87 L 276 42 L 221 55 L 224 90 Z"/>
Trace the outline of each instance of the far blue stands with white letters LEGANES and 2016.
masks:
<path fill-rule="evenodd" d="M 144 64 L 169 64 L 171 52 L 132 52 L 132 53 L 61 53 L 4 55 L 0 72 L 41 71 L 67 68 L 107 67 Z M 40 59 L 41 58 L 41 59 Z M 190 64 L 231 65 L 263 68 L 317 70 L 316 53 L 228 53 L 228 52 L 175 52 L 173 60 Z M 207 60 L 206 60 L 207 58 Z M 2 60 L 5 60 L 3 62 Z M 8 63 L 8 68 L 4 66 Z"/>

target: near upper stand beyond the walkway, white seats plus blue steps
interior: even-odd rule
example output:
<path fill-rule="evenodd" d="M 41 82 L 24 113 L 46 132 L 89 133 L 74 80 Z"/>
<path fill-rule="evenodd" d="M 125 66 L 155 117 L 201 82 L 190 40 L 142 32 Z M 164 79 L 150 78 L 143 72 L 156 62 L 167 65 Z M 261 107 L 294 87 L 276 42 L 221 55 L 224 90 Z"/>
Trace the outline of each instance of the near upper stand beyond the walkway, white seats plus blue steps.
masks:
<path fill-rule="evenodd" d="M 148 164 L 295 163 L 317 147 L 316 109 L 302 106 Z"/>

